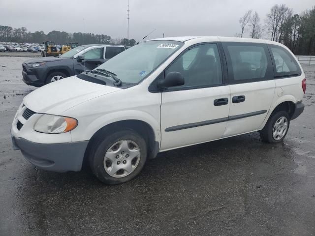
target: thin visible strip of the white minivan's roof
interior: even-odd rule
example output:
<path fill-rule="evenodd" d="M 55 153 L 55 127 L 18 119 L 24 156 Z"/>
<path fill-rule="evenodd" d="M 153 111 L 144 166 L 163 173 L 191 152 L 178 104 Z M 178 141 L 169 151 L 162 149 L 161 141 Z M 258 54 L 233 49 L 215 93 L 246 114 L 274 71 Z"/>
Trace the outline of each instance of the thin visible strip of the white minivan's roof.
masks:
<path fill-rule="evenodd" d="M 265 39 L 255 39 L 255 38 L 239 38 L 239 37 L 221 37 L 221 36 L 181 36 L 181 37 L 166 37 L 166 38 L 155 38 L 150 39 L 148 41 L 154 40 L 170 40 L 170 41 L 221 41 L 221 42 L 249 42 L 249 43 L 270 43 L 270 44 L 278 44 L 282 45 L 278 42 L 265 40 Z"/>

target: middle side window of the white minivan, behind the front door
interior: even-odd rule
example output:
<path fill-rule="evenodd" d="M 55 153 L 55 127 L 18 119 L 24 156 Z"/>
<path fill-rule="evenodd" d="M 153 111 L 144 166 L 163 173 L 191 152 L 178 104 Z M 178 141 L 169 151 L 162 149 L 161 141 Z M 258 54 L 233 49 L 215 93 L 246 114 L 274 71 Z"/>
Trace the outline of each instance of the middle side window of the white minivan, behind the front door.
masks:
<path fill-rule="evenodd" d="M 272 79 L 271 61 L 267 47 L 253 43 L 226 43 L 228 52 L 229 80 L 246 83 Z"/>

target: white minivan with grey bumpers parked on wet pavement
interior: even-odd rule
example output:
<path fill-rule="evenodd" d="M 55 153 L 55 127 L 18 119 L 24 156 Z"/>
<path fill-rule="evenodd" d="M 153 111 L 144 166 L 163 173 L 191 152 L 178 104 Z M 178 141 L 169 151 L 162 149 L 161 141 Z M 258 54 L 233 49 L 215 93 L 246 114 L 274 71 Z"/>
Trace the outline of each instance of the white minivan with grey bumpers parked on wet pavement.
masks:
<path fill-rule="evenodd" d="M 282 142 L 304 110 L 304 72 L 282 44 L 232 37 L 142 42 L 28 94 L 11 127 L 38 168 L 126 182 L 158 152 L 259 131 Z"/>

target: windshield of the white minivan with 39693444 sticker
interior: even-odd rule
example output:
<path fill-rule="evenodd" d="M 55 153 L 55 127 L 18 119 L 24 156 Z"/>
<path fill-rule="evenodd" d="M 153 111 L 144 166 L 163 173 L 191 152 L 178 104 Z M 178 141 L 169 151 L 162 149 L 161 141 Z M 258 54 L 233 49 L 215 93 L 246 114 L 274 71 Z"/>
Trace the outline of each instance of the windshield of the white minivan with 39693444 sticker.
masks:
<path fill-rule="evenodd" d="M 122 83 L 137 84 L 180 49 L 183 44 L 168 40 L 143 42 L 107 60 L 96 70 L 110 71 L 116 74 Z"/>

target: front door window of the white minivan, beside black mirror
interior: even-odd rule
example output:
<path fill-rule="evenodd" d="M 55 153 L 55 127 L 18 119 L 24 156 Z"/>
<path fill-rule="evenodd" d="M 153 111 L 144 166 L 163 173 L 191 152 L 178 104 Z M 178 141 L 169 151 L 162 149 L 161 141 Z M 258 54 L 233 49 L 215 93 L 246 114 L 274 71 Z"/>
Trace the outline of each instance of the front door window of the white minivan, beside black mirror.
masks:
<path fill-rule="evenodd" d="M 222 70 L 217 44 L 202 44 L 195 46 L 177 58 L 169 72 L 182 73 L 185 84 L 174 88 L 207 87 L 222 84 Z"/>

